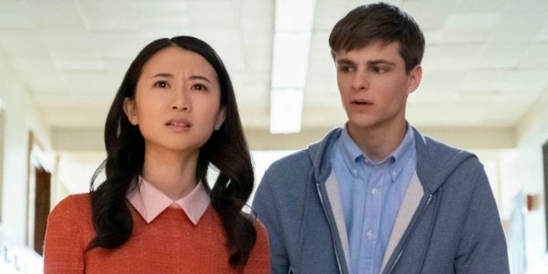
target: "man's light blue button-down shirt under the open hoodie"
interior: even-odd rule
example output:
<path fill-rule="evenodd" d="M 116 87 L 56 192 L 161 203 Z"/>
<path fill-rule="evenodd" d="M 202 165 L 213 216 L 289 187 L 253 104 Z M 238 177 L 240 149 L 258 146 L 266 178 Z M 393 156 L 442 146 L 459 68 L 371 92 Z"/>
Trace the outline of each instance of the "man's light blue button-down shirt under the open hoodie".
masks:
<path fill-rule="evenodd" d="M 416 170 L 413 131 L 407 126 L 394 153 L 374 162 L 344 127 L 331 160 L 348 233 L 351 273 L 380 273 L 397 211 Z"/>

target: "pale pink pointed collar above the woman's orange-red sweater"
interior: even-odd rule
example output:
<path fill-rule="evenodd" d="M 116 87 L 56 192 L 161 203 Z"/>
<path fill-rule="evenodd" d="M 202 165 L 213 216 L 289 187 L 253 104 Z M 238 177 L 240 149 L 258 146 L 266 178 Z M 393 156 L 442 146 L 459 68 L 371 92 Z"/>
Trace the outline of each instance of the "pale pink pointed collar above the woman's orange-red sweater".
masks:
<path fill-rule="evenodd" d="M 129 192 L 126 198 L 147 224 L 150 224 L 167 207 L 172 206 L 182 208 L 190 221 L 197 225 L 211 201 L 202 183 L 196 184 L 188 195 L 174 201 L 141 176 L 139 176 L 139 182 L 139 187 Z"/>

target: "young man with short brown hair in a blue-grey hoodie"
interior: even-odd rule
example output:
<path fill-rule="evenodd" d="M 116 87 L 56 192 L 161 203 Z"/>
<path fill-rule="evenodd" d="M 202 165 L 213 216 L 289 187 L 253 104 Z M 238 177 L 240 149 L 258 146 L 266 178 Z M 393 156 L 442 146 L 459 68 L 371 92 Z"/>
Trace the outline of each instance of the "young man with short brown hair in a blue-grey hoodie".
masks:
<path fill-rule="evenodd" d="M 425 40 L 394 5 L 362 5 L 329 39 L 343 128 L 273 163 L 254 199 L 273 273 L 509 273 L 478 158 L 406 122 Z"/>

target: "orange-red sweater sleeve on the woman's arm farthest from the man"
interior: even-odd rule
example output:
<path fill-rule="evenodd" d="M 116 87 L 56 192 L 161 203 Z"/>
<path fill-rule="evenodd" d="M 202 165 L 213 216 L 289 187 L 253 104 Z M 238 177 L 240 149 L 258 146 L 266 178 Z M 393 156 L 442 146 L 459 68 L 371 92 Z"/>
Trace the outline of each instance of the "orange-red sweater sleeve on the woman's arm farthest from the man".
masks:
<path fill-rule="evenodd" d="M 44 273 L 84 273 L 84 243 L 78 197 L 62 200 L 47 217 Z M 81 209 L 81 208 L 80 208 Z"/>

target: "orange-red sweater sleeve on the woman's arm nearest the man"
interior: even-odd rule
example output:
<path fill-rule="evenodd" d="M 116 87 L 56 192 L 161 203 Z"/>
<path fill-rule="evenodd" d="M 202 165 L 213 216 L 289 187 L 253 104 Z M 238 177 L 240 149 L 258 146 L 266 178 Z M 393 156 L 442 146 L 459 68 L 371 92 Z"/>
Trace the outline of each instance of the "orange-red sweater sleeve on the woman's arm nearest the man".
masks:
<path fill-rule="evenodd" d="M 270 273 L 269 236 L 267 235 L 267 229 L 259 220 L 255 221 L 255 229 L 257 230 L 257 241 L 251 251 L 244 273 Z"/>

